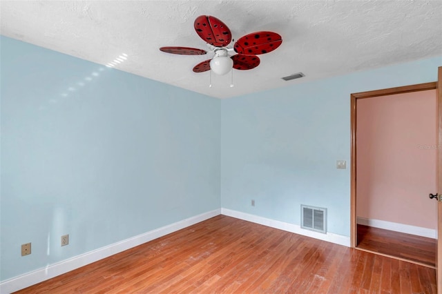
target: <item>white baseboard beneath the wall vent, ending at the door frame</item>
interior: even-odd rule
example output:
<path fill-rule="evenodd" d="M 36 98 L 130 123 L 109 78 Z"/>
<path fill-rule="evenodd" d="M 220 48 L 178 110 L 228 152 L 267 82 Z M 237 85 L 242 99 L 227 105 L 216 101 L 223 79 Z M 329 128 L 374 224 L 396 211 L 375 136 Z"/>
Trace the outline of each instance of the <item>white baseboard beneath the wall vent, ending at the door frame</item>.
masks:
<path fill-rule="evenodd" d="M 221 214 L 227 215 L 229 217 L 235 217 L 237 219 L 243 219 L 248 222 L 254 222 L 256 224 L 262 224 L 264 226 L 270 226 L 271 228 L 278 228 L 280 230 L 296 233 L 298 235 L 312 237 L 314 239 L 320 239 L 323 241 L 332 242 L 347 247 L 350 246 L 350 237 L 343 235 L 338 235 L 334 233 L 327 233 L 327 234 L 317 233 L 314 231 L 305 230 L 297 224 L 280 222 L 274 219 L 267 219 L 265 217 L 259 217 L 258 215 L 250 215 L 249 213 L 242 213 L 240 211 L 231 210 L 227 208 L 221 208 Z"/>

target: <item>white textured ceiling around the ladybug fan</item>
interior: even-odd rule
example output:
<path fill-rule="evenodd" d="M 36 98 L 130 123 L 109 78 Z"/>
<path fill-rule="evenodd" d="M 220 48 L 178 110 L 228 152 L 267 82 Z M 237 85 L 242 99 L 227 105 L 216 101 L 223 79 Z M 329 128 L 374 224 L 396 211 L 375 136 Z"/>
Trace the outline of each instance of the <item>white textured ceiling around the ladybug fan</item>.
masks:
<path fill-rule="evenodd" d="M 231 75 L 192 71 L 208 55 L 170 55 L 162 46 L 206 50 L 193 29 L 202 14 L 233 39 L 278 32 L 282 45 L 260 66 Z M 357 70 L 442 55 L 442 1 L 1 1 L 1 35 L 218 98 L 280 88 Z M 229 45 L 231 48 L 233 42 Z M 305 77 L 281 77 L 303 72 Z"/>

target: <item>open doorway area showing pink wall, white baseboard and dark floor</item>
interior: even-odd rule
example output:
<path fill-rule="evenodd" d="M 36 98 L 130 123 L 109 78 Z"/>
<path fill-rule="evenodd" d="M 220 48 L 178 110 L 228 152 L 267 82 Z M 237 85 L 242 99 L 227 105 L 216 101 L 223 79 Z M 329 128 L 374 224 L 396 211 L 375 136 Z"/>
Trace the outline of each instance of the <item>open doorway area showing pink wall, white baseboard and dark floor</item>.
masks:
<path fill-rule="evenodd" d="M 356 104 L 358 248 L 435 266 L 436 90 Z"/>

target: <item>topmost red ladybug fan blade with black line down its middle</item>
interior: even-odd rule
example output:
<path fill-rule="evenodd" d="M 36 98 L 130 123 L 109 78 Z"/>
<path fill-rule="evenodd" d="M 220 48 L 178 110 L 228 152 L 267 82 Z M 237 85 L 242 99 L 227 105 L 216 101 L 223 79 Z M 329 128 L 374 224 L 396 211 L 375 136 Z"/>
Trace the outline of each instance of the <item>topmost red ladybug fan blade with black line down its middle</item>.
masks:
<path fill-rule="evenodd" d="M 215 47 L 225 47 L 232 41 L 229 28 L 216 17 L 201 15 L 195 19 L 193 26 L 201 39 Z"/>

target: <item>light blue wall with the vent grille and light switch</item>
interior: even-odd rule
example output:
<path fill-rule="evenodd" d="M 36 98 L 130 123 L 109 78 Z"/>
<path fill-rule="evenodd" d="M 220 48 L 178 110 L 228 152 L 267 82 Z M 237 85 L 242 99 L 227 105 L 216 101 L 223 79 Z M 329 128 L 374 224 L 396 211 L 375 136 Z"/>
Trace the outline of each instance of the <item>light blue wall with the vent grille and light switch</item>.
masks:
<path fill-rule="evenodd" d="M 298 225 L 300 204 L 324 207 L 328 231 L 349 236 L 350 94 L 436 81 L 438 66 L 442 57 L 223 100 L 222 207 Z"/>

